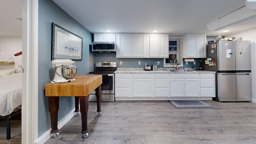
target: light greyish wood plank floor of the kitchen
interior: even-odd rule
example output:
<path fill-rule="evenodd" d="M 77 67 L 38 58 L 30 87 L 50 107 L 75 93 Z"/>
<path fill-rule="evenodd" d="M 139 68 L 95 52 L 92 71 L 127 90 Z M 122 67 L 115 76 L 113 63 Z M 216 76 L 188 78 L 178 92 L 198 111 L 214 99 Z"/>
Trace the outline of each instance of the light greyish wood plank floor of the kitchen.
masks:
<path fill-rule="evenodd" d="M 214 108 L 176 109 L 166 101 L 89 103 L 89 137 L 82 138 L 81 116 L 45 144 L 255 144 L 256 104 L 204 100 Z"/>

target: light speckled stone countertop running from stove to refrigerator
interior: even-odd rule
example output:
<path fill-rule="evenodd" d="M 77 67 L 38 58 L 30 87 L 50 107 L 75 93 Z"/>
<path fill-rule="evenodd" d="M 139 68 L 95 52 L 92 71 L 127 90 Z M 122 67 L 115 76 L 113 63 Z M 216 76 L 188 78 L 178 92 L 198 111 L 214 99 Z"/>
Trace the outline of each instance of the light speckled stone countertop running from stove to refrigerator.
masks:
<path fill-rule="evenodd" d="M 192 70 L 192 68 L 184 68 L 185 71 L 172 72 L 168 70 L 175 70 L 176 68 L 158 68 L 158 70 L 144 70 L 144 68 L 117 68 L 115 74 L 214 74 L 216 72 L 207 70 Z"/>

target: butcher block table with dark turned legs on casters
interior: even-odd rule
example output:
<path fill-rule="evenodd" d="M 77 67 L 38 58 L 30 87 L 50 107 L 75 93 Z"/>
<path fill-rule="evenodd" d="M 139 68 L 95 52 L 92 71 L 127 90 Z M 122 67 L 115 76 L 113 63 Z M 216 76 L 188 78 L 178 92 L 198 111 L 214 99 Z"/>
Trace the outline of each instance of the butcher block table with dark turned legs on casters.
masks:
<path fill-rule="evenodd" d="M 75 97 L 75 112 L 79 115 L 79 100 L 80 112 L 82 119 L 82 131 L 84 138 L 89 136 L 87 128 L 87 112 L 88 112 L 88 95 L 96 90 L 97 112 L 100 116 L 100 95 L 102 75 L 79 75 L 75 76 L 76 80 L 72 82 L 62 82 L 57 84 L 45 84 L 45 96 L 49 97 L 49 112 L 51 115 L 51 134 L 54 138 L 59 136 L 58 129 L 58 110 L 60 96 L 74 96 Z"/>

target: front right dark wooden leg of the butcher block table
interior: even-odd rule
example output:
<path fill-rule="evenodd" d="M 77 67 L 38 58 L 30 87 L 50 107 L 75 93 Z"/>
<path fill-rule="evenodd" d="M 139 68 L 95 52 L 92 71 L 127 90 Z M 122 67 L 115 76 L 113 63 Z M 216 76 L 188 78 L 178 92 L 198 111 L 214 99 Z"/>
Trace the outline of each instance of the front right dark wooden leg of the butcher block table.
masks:
<path fill-rule="evenodd" d="M 80 112 L 82 118 L 82 134 L 88 132 L 87 128 L 87 114 L 88 114 L 88 96 L 80 96 Z"/>

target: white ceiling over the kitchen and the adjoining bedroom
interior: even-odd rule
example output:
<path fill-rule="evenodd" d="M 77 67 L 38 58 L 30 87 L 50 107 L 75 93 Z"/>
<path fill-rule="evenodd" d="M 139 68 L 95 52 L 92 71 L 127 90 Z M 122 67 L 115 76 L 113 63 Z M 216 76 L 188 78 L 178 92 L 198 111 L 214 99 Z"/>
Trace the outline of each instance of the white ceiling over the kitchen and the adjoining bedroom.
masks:
<path fill-rule="evenodd" d="M 244 0 L 53 0 L 92 33 L 206 33 L 225 36 L 256 27 L 256 18 L 222 30 L 207 24 L 243 6 Z M 21 35 L 22 0 L 1 0 L 0 36 Z M 222 33 L 223 30 L 230 32 Z"/>

